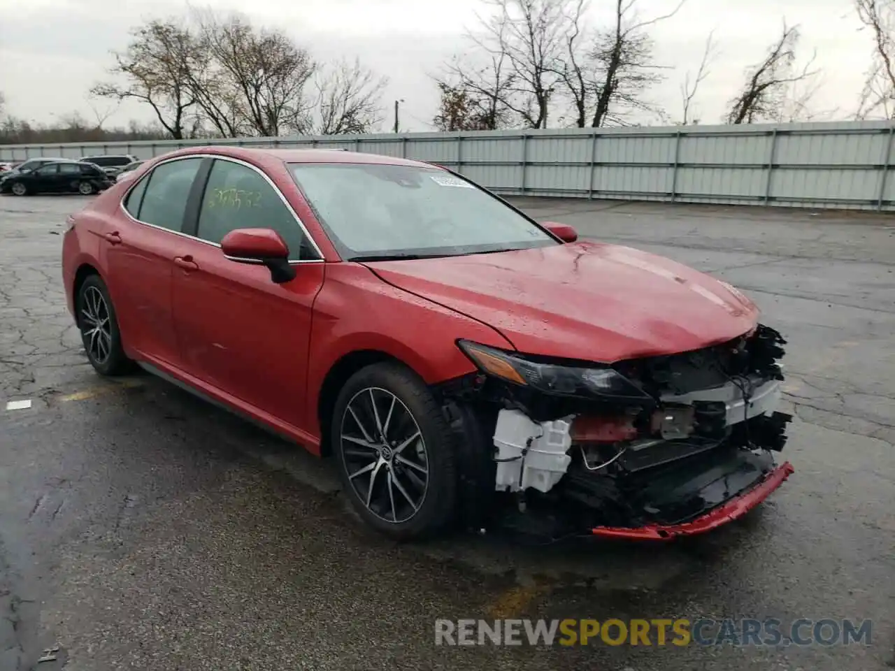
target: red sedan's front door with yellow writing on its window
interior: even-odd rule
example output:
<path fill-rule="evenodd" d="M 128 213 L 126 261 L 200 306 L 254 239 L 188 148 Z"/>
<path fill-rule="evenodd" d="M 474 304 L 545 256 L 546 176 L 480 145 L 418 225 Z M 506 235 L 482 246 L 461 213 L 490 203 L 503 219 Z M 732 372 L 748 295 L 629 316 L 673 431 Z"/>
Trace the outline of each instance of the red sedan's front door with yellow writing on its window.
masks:
<path fill-rule="evenodd" d="M 184 368 L 260 416 L 306 429 L 311 311 L 323 285 L 322 259 L 280 192 L 259 170 L 216 158 L 192 239 L 177 240 L 174 320 Z M 297 276 L 283 285 L 264 266 L 226 259 L 223 237 L 273 228 Z"/>

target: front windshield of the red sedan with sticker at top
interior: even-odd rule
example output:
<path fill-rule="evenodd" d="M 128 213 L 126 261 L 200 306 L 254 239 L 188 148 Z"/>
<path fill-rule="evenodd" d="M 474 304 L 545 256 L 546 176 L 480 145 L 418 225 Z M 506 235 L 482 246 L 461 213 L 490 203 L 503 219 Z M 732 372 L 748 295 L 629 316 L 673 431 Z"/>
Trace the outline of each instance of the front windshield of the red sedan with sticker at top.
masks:
<path fill-rule="evenodd" d="M 343 259 L 410 259 L 558 244 L 486 191 L 439 168 L 289 166 Z"/>

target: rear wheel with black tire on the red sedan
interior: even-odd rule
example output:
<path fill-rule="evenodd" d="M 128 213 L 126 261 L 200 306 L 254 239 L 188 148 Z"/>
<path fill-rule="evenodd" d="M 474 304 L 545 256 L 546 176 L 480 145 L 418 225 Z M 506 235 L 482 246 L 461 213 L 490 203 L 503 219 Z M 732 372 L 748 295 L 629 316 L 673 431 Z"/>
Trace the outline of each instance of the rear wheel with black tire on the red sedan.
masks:
<path fill-rule="evenodd" d="M 98 307 L 98 297 L 105 303 L 105 308 Z M 109 296 L 106 283 L 98 275 L 88 276 L 78 289 L 75 297 L 77 324 L 81 331 L 81 343 L 90 365 L 104 376 L 125 375 L 132 372 L 136 365 L 124 354 L 121 344 L 121 332 L 118 330 L 118 321 L 115 319 L 115 306 Z M 105 334 L 96 333 L 93 327 L 98 323 L 96 319 L 107 318 L 107 331 Z M 98 345 L 102 341 L 105 348 Z"/>

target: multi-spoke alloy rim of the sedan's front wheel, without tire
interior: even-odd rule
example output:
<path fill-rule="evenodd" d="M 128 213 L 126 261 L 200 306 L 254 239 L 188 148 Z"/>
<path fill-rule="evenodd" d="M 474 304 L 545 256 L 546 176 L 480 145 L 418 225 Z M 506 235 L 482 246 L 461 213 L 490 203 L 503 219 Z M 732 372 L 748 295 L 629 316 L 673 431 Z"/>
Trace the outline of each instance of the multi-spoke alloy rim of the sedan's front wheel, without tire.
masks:
<path fill-rule="evenodd" d="M 429 489 L 429 455 L 405 403 L 388 389 L 355 394 L 342 415 L 341 449 L 348 481 L 384 522 L 406 522 Z"/>

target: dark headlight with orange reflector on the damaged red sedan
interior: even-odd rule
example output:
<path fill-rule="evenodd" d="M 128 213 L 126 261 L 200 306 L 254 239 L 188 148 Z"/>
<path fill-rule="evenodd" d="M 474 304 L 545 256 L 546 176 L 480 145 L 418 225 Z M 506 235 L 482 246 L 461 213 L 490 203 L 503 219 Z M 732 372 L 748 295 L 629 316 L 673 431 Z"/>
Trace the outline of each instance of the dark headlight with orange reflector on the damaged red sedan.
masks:
<path fill-rule="evenodd" d="M 469 340 L 458 340 L 457 345 L 483 373 L 519 386 L 529 386 L 547 394 L 652 401 L 652 396 L 635 382 L 605 364 L 538 363 Z"/>

